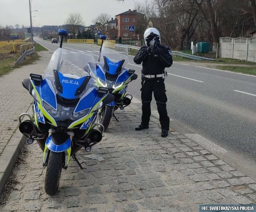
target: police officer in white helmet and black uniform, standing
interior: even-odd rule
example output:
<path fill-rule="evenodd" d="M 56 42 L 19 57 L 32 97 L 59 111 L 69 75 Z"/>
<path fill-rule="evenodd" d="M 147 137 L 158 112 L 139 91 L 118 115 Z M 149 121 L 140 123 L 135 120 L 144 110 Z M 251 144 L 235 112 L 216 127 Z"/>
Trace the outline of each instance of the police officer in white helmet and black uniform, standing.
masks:
<path fill-rule="evenodd" d="M 142 46 L 134 57 L 136 64 L 142 63 L 142 121 L 135 130 L 148 129 L 151 115 L 150 103 L 152 92 L 156 100 L 162 137 L 168 136 L 170 119 L 166 110 L 166 90 L 164 77 L 167 76 L 165 67 L 172 65 L 172 52 L 167 46 L 160 45 L 160 33 L 156 28 L 148 28 L 144 32 L 146 46 Z"/>

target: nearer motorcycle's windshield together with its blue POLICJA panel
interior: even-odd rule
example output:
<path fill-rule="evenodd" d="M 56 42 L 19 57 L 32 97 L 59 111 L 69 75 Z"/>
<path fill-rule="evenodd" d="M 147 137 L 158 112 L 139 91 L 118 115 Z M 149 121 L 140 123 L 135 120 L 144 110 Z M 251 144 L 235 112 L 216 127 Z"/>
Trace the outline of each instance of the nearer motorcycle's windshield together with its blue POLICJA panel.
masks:
<path fill-rule="evenodd" d="M 43 78 L 48 78 L 52 82 L 59 96 L 65 99 L 76 99 L 90 87 L 96 86 L 83 69 L 88 63 L 92 69 L 96 69 L 92 55 L 82 51 L 58 48 L 44 70 Z"/>

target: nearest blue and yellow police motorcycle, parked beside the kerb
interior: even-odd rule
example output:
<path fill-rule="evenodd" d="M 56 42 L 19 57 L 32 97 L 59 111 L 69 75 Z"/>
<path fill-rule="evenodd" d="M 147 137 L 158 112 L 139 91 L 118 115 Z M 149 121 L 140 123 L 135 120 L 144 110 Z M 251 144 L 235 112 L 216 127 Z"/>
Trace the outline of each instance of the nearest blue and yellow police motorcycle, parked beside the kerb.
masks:
<path fill-rule="evenodd" d="M 60 48 L 53 53 L 44 74 L 31 73 L 29 79 L 22 80 L 34 98 L 33 115 L 19 116 L 19 130 L 28 138 L 27 143 L 37 141 L 44 152 L 44 188 L 49 195 L 57 192 L 62 168 L 68 167 L 70 157 L 83 168 L 75 154 L 81 148 L 91 151 L 101 141 L 104 127 L 95 123 L 97 113 L 114 100 L 108 88 L 99 87 L 83 70 L 88 63 L 96 69 L 94 57 L 63 49 L 68 32 L 59 30 L 58 34 Z"/>

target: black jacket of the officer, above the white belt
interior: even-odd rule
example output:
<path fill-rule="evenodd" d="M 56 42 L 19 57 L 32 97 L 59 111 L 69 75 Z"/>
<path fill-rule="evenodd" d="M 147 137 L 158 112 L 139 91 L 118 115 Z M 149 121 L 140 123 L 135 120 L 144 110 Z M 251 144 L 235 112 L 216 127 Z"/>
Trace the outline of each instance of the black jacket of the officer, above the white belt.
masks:
<path fill-rule="evenodd" d="M 159 45 L 157 53 L 148 53 L 147 48 L 142 46 L 133 59 L 136 64 L 142 63 L 143 74 L 162 74 L 164 68 L 172 65 L 172 52 L 168 46 Z"/>

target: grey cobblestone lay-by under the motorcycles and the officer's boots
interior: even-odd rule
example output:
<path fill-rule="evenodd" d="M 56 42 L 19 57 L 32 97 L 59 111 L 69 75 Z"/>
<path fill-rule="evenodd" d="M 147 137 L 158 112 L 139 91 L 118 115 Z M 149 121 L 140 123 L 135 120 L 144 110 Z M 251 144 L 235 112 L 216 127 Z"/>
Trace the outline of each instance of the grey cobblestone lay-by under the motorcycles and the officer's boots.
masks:
<path fill-rule="evenodd" d="M 199 211 L 199 204 L 255 204 L 256 182 L 178 132 L 160 137 L 158 120 L 135 131 L 141 111 L 126 107 L 92 152 L 62 171 L 55 196 L 44 192 L 46 168 L 36 143 L 26 145 L 18 184 L 0 211 Z M 98 160 L 91 159 L 98 156 Z M 100 160 L 101 159 L 101 160 Z"/>

